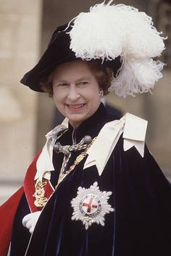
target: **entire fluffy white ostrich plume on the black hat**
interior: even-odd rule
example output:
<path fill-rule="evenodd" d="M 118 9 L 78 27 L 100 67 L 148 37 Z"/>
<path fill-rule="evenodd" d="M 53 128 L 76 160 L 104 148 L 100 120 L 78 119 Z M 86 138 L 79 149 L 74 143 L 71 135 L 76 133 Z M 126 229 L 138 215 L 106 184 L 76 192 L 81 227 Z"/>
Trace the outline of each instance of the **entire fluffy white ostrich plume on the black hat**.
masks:
<path fill-rule="evenodd" d="M 70 30 L 70 49 L 81 59 L 113 60 L 120 56 L 122 67 L 112 82 L 119 96 L 150 91 L 162 78 L 164 38 L 145 12 L 109 1 L 96 4 L 90 12 L 75 17 Z"/>

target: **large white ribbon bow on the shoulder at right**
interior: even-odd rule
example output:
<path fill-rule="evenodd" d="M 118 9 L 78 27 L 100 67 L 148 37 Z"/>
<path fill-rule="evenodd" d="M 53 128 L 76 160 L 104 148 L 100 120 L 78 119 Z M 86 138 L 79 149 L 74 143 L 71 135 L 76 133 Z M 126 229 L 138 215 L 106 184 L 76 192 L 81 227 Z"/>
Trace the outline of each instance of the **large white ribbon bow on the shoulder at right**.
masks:
<path fill-rule="evenodd" d="M 146 120 L 130 113 L 125 114 L 120 120 L 106 123 L 97 136 L 96 141 L 87 151 L 88 157 L 84 164 L 84 169 L 96 165 L 99 176 L 101 176 L 122 133 L 124 151 L 135 146 L 141 157 L 143 157 L 146 127 Z"/>

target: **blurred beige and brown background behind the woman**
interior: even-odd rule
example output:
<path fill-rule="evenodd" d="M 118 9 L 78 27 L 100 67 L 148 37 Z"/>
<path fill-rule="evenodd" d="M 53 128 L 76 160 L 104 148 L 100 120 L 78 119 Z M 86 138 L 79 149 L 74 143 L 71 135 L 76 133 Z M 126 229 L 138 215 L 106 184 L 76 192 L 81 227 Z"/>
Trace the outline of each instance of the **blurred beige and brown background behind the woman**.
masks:
<path fill-rule="evenodd" d="M 20 84 L 22 75 L 36 65 L 51 33 L 89 7 L 94 0 L 0 0 L 0 205 L 22 186 L 25 171 L 45 143 L 54 125 L 54 104 L 45 94 Z M 153 94 L 120 99 L 114 93 L 107 103 L 118 110 L 149 120 L 147 145 L 164 174 L 171 179 L 171 1 L 123 0 L 153 17 L 162 30 L 166 49 L 163 78 Z"/>

